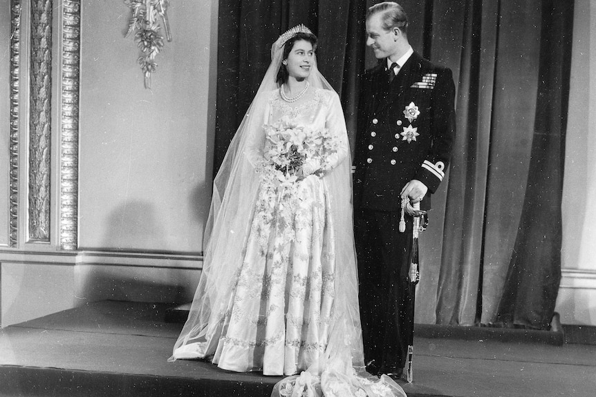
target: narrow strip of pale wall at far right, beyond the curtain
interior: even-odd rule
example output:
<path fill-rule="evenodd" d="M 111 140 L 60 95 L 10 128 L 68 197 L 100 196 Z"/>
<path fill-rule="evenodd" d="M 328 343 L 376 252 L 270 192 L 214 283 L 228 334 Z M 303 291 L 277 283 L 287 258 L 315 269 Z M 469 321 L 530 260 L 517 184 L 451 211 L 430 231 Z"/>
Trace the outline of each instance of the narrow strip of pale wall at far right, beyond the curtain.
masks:
<path fill-rule="evenodd" d="M 563 186 L 562 278 L 565 324 L 596 325 L 596 4 L 575 0 Z"/>

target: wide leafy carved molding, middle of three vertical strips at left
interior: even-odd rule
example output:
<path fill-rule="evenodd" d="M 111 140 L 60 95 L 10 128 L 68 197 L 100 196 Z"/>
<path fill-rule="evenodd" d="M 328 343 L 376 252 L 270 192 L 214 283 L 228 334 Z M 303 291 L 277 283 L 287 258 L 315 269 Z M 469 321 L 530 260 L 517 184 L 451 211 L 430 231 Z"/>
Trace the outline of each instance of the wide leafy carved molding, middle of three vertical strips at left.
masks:
<path fill-rule="evenodd" d="M 28 231 L 50 240 L 52 0 L 31 1 Z"/>

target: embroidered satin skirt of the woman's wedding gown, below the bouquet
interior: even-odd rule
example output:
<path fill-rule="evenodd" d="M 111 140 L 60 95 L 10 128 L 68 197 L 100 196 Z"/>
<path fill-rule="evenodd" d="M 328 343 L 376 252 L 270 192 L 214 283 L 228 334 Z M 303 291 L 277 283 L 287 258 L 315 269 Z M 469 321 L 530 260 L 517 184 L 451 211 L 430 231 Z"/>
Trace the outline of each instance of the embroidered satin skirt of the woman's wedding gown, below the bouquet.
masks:
<path fill-rule="evenodd" d="M 292 375 L 322 354 L 335 284 L 328 205 L 315 175 L 292 186 L 261 185 L 214 353 L 218 367 Z"/>

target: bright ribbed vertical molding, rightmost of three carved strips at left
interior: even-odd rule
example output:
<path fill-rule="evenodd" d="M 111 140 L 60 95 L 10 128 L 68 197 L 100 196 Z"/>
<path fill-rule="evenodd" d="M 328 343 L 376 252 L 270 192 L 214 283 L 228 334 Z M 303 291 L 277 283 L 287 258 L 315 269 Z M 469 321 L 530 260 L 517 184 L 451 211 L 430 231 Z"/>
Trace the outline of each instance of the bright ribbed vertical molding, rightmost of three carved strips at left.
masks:
<path fill-rule="evenodd" d="M 60 247 L 77 249 L 79 193 L 80 0 L 62 4 Z"/>

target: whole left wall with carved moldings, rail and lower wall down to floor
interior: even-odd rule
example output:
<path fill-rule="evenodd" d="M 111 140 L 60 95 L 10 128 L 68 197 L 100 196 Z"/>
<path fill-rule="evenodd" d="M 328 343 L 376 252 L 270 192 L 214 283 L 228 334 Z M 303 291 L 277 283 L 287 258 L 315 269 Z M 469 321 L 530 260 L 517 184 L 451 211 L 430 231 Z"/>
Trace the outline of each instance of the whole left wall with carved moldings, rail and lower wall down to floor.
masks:
<path fill-rule="evenodd" d="M 217 4 L 170 4 L 174 40 L 147 90 L 123 1 L 0 0 L 0 327 L 95 300 L 192 299 Z"/>

